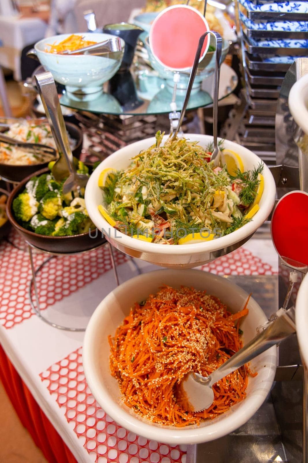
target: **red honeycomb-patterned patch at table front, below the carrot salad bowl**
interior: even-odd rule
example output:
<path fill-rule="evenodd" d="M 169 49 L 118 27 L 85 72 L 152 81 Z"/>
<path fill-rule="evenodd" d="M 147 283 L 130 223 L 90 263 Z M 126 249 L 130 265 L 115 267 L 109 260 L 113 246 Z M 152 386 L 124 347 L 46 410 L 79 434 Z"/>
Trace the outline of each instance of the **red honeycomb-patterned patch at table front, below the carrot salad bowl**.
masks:
<path fill-rule="evenodd" d="M 186 463 L 185 445 L 160 444 L 137 436 L 102 410 L 85 381 L 81 347 L 40 377 L 92 462 Z"/>

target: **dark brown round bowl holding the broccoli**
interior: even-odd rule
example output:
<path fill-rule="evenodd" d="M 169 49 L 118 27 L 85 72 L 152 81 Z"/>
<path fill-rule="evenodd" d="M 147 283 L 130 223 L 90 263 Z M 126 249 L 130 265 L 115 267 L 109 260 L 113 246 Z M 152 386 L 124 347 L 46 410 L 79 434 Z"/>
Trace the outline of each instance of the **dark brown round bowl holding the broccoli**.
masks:
<path fill-rule="evenodd" d="M 36 172 L 36 175 L 45 174 L 46 172 L 49 172 L 49 169 L 39 170 Z M 82 233 L 81 235 L 72 236 L 45 236 L 30 232 L 29 230 L 26 230 L 24 227 L 19 225 L 14 217 L 12 203 L 18 194 L 24 190 L 25 184 L 31 179 L 31 177 L 33 177 L 33 175 L 29 175 L 27 178 L 21 181 L 17 187 L 13 189 L 6 202 L 7 217 L 13 227 L 24 238 L 24 240 L 43 251 L 59 254 L 70 254 L 74 252 L 87 251 L 96 248 L 100 244 L 106 243 L 106 238 L 102 237 L 102 233 L 99 231 L 97 231 L 96 238 L 91 238 L 88 232 Z M 95 234 L 96 232 L 93 231 L 93 235 Z"/>

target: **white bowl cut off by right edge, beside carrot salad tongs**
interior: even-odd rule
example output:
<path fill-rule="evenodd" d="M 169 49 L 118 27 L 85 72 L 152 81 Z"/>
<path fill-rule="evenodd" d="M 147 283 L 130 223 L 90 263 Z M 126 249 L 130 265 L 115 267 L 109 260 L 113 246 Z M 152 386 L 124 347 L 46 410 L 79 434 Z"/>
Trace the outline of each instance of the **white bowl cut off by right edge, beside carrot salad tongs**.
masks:
<path fill-rule="evenodd" d="M 303 279 L 297 293 L 295 323 L 302 360 L 308 368 L 308 274 Z"/>

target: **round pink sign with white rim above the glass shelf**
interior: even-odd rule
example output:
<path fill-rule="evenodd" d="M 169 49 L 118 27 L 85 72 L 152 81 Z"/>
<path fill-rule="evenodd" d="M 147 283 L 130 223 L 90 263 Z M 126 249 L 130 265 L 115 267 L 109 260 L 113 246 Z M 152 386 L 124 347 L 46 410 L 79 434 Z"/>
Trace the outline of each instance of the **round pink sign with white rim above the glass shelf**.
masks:
<path fill-rule="evenodd" d="M 153 21 L 150 30 L 150 47 L 153 55 L 165 68 L 184 71 L 193 66 L 199 38 L 209 26 L 197 10 L 187 5 L 170 6 Z M 200 61 L 209 48 L 205 38 Z"/>

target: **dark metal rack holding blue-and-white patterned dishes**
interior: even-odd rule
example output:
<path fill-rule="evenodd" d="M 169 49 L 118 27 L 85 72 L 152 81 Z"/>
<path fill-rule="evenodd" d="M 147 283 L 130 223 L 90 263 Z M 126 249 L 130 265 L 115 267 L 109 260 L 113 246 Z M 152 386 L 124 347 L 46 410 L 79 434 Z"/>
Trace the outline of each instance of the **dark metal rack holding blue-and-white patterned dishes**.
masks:
<path fill-rule="evenodd" d="M 307 56 L 308 48 L 284 48 L 283 46 L 259 46 L 258 40 L 308 40 L 306 30 L 277 31 L 255 29 L 255 24 L 262 21 L 308 21 L 308 13 L 274 11 L 248 11 L 245 2 L 236 0 L 237 26 L 240 35 L 240 58 L 242 78 L 245 89 L 242 92 L 242 125 L 238 131 L 238 141 L 252 149 L 265 161 L 275 157 L 275 114 L 280 87 L 292 60 L 288 62 L 271 62 L 271 56 Z M 308 24 L 308 23 L 307 23 Z M 263 157 L 264 156 L 264 157 Z"/>

